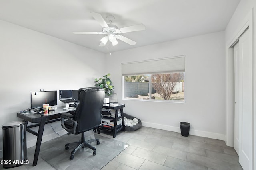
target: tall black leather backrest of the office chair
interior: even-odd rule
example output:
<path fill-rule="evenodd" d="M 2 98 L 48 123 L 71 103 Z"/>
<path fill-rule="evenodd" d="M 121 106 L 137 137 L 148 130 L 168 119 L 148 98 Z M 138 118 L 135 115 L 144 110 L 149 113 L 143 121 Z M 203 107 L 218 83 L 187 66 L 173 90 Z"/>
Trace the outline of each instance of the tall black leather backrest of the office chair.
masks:
<path fill-rule="evenodd" d="M 76 133 L 98 127 L 101 123 L 101 109 L 105 91 L 99 87 L 80 88 L 78 90 L 79 105 L 73 119 L 77 121 Z"/>

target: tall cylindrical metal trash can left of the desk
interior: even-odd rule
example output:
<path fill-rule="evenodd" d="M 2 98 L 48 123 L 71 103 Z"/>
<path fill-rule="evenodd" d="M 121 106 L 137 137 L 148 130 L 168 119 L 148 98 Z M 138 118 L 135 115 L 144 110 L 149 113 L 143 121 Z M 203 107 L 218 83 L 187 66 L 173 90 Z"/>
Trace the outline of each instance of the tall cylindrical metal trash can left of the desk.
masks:
<path fill-rule="evenodd" d="M 3 129 L 3 167 L 27 164 L 26 122 L 5 123 Z"/>

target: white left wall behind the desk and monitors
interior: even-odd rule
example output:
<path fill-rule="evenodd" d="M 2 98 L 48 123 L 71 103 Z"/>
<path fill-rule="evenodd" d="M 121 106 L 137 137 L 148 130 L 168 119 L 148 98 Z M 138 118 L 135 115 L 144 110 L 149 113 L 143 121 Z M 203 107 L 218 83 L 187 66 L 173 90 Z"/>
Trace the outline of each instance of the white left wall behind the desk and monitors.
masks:
<path fill-rule="evenodd" d="M 94 86 L 104 75 L 103 53 L 0 20 L 0 125 L 21 120 L 17 112 L 30 107 L 30 91 Z M 97 66 L 96 66 L 97 64 Z M 70 72 L 65 72 L 69 68 Z M 58 106 L 63 105 L 58 100 Z M 55 131 L 66 133 L 60 122 Z M 37 129 L 37 128 L 36 128 Z M 43 141 L 58 137 L 46 125 Z M 28 147 L 36 137 L 27 133 Z M 2 131 L 0 131 L 2 157 Z"/>

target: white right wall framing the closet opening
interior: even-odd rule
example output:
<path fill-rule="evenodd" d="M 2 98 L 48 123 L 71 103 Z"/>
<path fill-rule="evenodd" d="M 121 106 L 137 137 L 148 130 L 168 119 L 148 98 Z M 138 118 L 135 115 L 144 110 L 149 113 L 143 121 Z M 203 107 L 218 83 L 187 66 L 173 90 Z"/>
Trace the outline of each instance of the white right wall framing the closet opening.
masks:
<path fill-rule="evenodd" d="M 241 0 L 236 11 L 234 12 L 230 22 L 228 23 L 225 30 L 225 45 L 226 45 L 226 75 L 227 75 L 227 122 L 226 122 L 226 143 L 229 146 L 234 146 L 234 102 L 230 102 L 234 100 L 234 59 L 232 58 L 234 55 L 232 54 L 232 49 L 228 49 L 229 45 L 232 41 L 234 41 L 236 36 L 241 31 L 242 27 L 245 25 L 245 21 L 248 18 L 248 14 L 252 16 L 252 51 L 253 51 L 253 129 L 252 129 L 252 137 L 253 137 L 253 146 L 252 150 L 254 150 L 254 160 L 256 158 L 256 60 L 255 60 L 255 45 L 256 45 L 256 0 Z M 230 90 L 231 89 L 231 90 Z M 254 168 L 256 168 L 255 162 L 253 162 Z"/>

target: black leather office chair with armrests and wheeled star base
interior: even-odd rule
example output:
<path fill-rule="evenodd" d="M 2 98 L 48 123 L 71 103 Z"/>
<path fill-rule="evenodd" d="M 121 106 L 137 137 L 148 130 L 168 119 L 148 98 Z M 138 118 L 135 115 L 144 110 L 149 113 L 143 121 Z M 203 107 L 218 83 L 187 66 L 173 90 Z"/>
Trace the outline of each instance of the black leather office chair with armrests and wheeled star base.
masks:
<path fill-rule="evenodd" d="M 74 115 L 70 113 L 61 113 L 61 126 L 72 134 L 82 134 L 81 142 L 68 143 L 65 149 L 69 149 L 69 145 L 78 145 L 69 157 L 70 160 L 74 158 L 74 154 L 81 147 L 88 147 L 93 150 L 93 155 L 96 155 L 96 149 L 89 143 L 96 142 L 100 144 L 99 139 L 91 139 L 85 141 L 84 132 L 91 129 L 98 129 L 101 123 L 101 109 L 104 103 L 105 91 L 103 88 L 88 87 L 80 88 L 78 90 L 78 100 L 80 104 L 76 107 Z M 65 119 L 68 119 L 64 121 Z"/>

